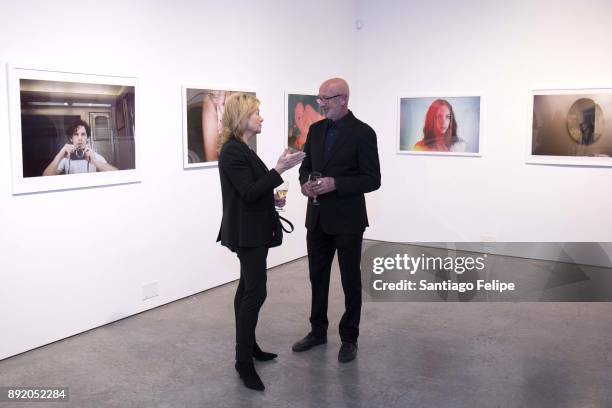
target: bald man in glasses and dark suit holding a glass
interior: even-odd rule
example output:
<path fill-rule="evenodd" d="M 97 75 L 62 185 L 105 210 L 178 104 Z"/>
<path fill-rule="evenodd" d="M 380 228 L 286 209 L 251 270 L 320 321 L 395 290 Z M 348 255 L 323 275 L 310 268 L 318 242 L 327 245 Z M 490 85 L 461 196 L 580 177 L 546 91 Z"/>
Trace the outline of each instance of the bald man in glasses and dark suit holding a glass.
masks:
<path fill-rule="evenodd" d="M 340 320 L 338 361 L 357 356 L 361 316 L 361 242 L 368 226 L 365 193 L 380 187 L 376 133 L 348 109 L 349 87 L 341 78 L 319 88 L 317 101 L 325 119 L 310 126 L 300 167 L 306 211 L 308 268 L 312 287 L 310 333 L 295 352 L 327 342 L 327 299 L 334 254 L 338 252 L 345 311 Z M 309 181 L 311 173 L 321 178 Z M 316 200 L 314 200 L 316 198 Z"/>

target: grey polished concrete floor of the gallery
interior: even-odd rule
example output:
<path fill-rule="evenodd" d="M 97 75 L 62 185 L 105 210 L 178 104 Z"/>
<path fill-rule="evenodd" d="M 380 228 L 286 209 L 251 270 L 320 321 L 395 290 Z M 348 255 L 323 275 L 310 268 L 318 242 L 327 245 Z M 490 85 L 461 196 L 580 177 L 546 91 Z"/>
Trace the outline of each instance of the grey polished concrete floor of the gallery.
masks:
<path fill-rule="evenodd" d="M 258 326 L 265 392 L 234 370 L 236 283 L 0 361 L 0 386 L 64 385 L 68 403 L 2 407 L 612 407 L 611 303 L 366 302 L 359 355 L 339 364 L 335 266 L 328 344 L 309 326 L 307 262 L 271 269 Z"/>

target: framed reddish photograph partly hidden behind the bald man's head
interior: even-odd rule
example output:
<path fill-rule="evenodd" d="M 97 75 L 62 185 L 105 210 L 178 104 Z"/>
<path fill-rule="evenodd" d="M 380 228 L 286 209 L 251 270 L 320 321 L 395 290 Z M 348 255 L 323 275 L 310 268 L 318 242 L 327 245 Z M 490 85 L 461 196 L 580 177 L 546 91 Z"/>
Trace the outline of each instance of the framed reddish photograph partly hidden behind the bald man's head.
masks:
<path fill-rule="evenodd" d="M 317 102 L 317 96 L 308 93 L 285 93 L 286 146 L 292 150 L 304 150 L 310 125 L 325 119 Z"/>

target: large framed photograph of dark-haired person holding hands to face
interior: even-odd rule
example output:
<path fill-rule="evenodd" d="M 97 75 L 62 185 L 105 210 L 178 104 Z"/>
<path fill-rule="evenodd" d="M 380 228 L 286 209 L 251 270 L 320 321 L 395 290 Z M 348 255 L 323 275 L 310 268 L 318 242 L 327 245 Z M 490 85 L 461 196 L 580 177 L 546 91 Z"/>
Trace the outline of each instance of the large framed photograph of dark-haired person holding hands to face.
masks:
<path fill-rule="evenodd" d="M 13 193 L 140 181 L 134 77 L 8 65 Z"/>

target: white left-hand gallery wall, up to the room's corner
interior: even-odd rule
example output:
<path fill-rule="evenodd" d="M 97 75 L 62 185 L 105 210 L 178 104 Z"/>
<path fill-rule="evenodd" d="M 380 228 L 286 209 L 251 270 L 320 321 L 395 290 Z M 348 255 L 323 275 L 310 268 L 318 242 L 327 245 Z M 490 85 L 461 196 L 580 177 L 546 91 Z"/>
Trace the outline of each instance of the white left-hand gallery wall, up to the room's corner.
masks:
<path fill-rule="evenodd" d="M 256 90 L 265 119 L 258 153 L 273 166 L 285 143 L 284 92 L 355 76 L 350 0 L 2 0 L 0 8 L 3 78 L 6 63 L 138 77 L 142 174 L 137 184 L 13 196 L 0 81 L 0 359 L 238 277 L 236 257 L 215 243 L 217 168 L 183 170 L 182 84 Z M 306 253 L 306 201 L 296 170 L 283 176 L 296 232 L 271 250 L 271 266 Z M 143 301 L 143 286 L 155 282 L 159 295 Z"/>

